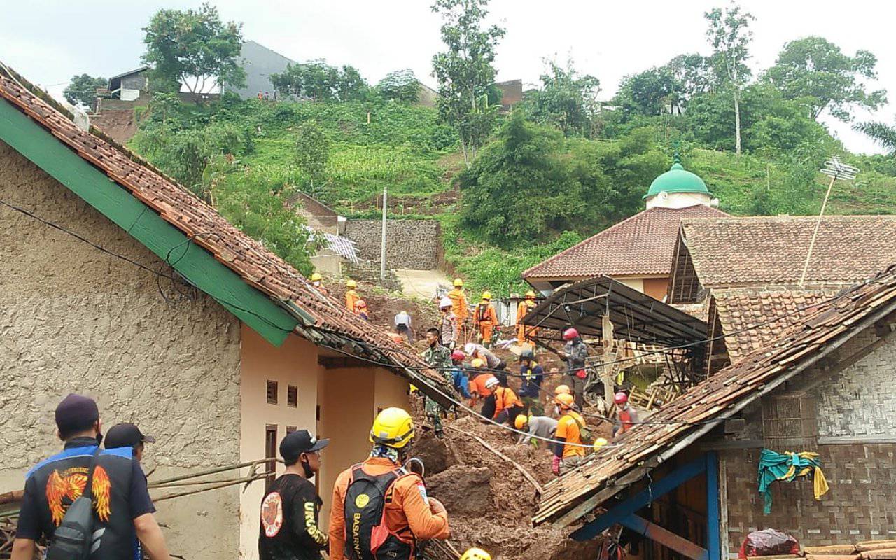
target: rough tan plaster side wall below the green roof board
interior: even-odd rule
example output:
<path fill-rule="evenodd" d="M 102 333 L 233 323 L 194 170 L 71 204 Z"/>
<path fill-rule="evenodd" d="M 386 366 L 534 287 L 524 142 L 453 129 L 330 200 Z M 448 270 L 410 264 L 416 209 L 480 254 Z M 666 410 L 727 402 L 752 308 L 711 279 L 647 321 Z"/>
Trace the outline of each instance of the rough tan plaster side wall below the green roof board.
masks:
<path fill-rule="evenodd" d="M 161 262 L 0 142 L 0 199 L 152 269 Z M 0 492 L 61 448 L 53 409 L 97 399 L 106 427 L 138 423 L 158 443 L 153 479 L 239 459 L 238 321 L 210 298 L 169 306 L 155 275 L 0 207 Z M 162 285 L 166 288 L 165 284 Z M 154 492 L 154 497 L 164 494 Z M 236 487 L 158 505 L 171 552 L 237 556 Z"/>

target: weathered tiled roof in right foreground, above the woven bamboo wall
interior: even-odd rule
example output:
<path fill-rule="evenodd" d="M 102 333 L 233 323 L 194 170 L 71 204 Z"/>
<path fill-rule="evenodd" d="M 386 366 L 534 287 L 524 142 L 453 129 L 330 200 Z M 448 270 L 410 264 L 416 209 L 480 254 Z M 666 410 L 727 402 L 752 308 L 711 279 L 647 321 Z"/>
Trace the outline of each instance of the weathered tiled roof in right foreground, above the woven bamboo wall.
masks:
<path fill-rule="evenodd" d="M 618 445 L 607 446 L 579 469 L 548 483 L 533 521 L 556 520 L 600 491 L 599 502 L 582 504 L 564 522 L 582 517 L 894 309 L 896 265 L 806 309 L 798 323 L 762 349 L 695 385 L 649 422 L 626 432 Z"/>

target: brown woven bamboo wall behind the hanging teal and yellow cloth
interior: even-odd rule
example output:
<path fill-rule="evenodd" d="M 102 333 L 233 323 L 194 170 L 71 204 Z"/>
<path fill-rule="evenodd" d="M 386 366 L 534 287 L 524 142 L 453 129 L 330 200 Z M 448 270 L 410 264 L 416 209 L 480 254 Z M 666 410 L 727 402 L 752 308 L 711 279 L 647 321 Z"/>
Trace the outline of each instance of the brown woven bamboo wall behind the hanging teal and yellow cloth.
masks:
<path fill-rule="evenodd" d="M 771 514 L 762 514 L 756 487 L 758 449 L 720 452 L 728 484 L 729 552 L 757 529 L 784 530 L 806 546 L 896 538 L 896 444 L 821 445 L 831 490 L 815 501 L 812 482 L 772 487 Z"/>

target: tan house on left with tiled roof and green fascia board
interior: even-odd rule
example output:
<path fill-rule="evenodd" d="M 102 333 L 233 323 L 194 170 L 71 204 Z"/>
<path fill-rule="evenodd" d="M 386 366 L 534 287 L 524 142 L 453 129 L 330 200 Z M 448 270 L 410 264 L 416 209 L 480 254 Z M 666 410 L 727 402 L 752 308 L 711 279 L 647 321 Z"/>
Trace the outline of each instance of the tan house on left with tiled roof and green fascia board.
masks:
<path fill-rule="evenodd" d="M 408 383 L 444 401 L 440 376 L 386 333 L 5 72 L 0 262 L 0 492 L 60 448 L 53 409 L 68 392 L 96 398 L 105 426 L 156 436 L 150 482 L 273 457 L 292 429 L 331 437 L 325 499 L 369 451 L 377 410 L 408 405 Z M 160 501 L 171 551 L 257 557 L 263 491 Z"/>

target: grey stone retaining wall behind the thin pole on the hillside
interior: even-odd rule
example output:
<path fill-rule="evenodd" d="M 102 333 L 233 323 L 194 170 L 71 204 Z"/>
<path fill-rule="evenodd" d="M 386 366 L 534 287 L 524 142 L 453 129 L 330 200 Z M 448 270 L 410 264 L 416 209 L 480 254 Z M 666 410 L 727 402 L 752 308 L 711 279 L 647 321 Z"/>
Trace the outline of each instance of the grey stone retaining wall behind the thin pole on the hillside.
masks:
<path fill-rule="evenodd" d="M 380 262 L 383 222 L 349 220 L 345 237 L 358 246 L 362 259 Z M 435 270 L 439 266 L 442 233 L 436 220 L 386 220 L 386 267 Z"/>

